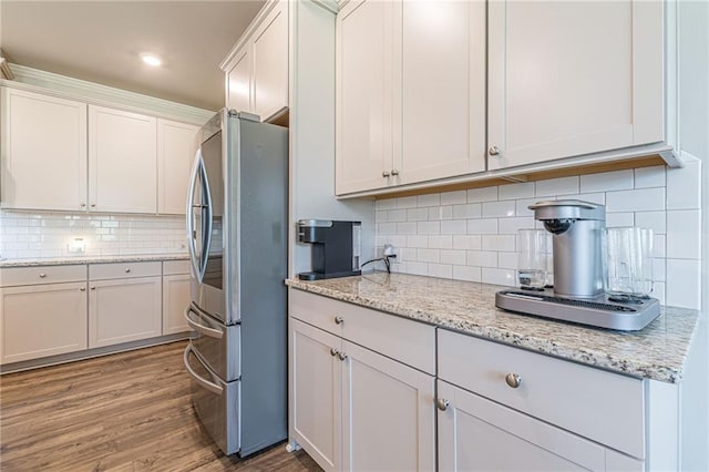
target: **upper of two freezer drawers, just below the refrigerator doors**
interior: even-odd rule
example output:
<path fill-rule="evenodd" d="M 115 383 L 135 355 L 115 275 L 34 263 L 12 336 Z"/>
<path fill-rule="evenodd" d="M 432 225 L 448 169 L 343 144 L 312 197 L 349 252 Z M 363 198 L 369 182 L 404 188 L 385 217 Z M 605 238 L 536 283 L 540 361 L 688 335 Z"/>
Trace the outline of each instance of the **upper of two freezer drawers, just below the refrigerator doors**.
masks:
<path fill-rule="evenodd" d="M 199 359 L 224 381 L 242 376 L 240 325 L 225 326 L 194 304 L 185 309 L 185 320 L 195 331 L 192 345 Z"/>

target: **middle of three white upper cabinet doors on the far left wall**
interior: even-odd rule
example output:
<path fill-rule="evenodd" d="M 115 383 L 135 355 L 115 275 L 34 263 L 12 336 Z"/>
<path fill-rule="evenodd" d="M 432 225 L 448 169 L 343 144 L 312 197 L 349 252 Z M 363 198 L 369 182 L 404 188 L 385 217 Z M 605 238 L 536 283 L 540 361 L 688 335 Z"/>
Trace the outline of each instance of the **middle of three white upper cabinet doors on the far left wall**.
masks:
<path fill-rule="evenodd" d="M 156 147 L 154 117 L 89 105 L 89 209 L 156 213 Z"/>

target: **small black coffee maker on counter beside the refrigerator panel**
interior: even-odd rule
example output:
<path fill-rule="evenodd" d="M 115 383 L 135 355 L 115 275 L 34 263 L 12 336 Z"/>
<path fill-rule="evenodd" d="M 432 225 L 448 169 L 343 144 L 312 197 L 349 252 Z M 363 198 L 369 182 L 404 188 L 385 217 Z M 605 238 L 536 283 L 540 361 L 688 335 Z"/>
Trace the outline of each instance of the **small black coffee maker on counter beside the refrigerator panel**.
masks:
<path fill-rule="evenodd" d="M 299 219 L 298 243 L 312 246 L 312 270 L 298 274 L 301 280 L 320 280 L 360 275 L 360 222 Z"/>

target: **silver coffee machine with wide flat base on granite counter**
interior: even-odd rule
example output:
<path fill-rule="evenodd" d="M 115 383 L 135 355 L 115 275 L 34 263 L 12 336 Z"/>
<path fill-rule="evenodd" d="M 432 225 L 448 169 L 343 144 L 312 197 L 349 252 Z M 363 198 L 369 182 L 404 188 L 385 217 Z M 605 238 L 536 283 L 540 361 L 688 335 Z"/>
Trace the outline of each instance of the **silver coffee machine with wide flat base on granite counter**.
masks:
<path fill-rule="evenodd" d="M 554 287 L 501 290 L 495 294 L 497 308 L 625 331 L 643 329 L 657 318 L 657 299 L 646 296 L 619 301 L 604 290 L 604 205 L 559 199 L 528 208 L 553 235 Z"/>

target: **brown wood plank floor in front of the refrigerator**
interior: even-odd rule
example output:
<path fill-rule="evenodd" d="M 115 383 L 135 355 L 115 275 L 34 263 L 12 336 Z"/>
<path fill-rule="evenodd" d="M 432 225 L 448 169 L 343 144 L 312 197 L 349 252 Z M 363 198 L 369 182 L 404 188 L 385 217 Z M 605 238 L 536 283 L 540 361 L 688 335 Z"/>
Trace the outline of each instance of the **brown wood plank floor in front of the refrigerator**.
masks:
<path fill-rule="evenodd" d="M 285 444 L 225 456 L 199 424 L 185 341 L 0 377 L 0 470 L 320 471 Z"/>

